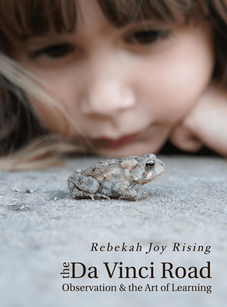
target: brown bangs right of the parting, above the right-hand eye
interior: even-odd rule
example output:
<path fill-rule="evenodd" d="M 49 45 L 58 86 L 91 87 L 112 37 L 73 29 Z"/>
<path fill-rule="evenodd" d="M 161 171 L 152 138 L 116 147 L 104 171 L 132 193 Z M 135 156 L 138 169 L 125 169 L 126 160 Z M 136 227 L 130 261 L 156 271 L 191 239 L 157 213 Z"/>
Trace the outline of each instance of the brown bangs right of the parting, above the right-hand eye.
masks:
<path fill-rule="evenodd" d="M 106 18 L 121 27 L 132 22 L 158 20 L 174 22 L 180 15 L 187 19 L 201 14 L 196 0 L 98 0 Z"/>

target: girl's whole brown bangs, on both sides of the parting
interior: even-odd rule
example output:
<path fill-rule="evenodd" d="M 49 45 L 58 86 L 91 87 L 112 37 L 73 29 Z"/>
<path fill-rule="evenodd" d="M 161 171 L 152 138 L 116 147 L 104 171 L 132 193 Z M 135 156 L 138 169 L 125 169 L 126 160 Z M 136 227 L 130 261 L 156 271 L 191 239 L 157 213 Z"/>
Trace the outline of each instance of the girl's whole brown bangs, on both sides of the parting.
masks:
<path fill-rule="evenodd" d="M 174 22 L 177 16 L 187 22 L 191 16 L 207 14 L 205 0 L 95 1 L 115 27 L 148 19 Z M 10 55 L 15 39 L 23 41 L 49 30 L 74 32 L 77 11 L 76 0 L 0 0 L 0 51 Z"/>

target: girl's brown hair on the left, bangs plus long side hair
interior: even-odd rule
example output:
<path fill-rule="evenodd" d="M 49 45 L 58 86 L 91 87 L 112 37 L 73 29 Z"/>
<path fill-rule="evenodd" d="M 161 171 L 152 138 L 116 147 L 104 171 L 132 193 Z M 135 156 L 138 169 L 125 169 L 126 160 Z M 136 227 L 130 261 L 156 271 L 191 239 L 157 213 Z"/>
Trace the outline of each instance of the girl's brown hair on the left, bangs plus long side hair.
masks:
<path fill-rule="evenodd" d="M 15 41 L 23 42 L 51 28 L 70 33 L 75 29 L 75 17 L 75 2 L 71 0 L 1 0 L 0 51 L 10 56 Z M 20 78 L 19 71 L 17 74 Z M 42 135 L 46 139 L 48 131 L 23 90 L 0 69 L 0 155 L 13 153 L 34 137 Z"/>

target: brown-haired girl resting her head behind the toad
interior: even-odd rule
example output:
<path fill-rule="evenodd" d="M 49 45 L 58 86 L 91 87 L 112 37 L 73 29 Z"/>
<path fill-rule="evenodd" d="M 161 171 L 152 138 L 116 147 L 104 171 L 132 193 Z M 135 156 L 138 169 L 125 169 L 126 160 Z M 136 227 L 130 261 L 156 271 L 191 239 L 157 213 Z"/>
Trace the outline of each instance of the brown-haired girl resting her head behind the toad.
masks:
<path fill-rule="evenodd" d="M 226 156 L 226 12 L 224 0 L 1 0 L 1 153 L 55 133 L 66 151 L 143 155 L 170 139 Z"/>

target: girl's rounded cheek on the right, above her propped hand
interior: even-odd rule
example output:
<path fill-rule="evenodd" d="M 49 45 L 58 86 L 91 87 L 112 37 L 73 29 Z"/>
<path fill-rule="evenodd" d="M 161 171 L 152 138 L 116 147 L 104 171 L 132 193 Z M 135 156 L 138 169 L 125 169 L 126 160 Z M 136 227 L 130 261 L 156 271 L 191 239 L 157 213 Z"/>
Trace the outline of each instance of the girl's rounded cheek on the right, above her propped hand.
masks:
<path fill-rule="evenodd" d="M 177 119 L 187 112 L 210 83 L 214 67 L 212 35 L 206 29 L 177 33 L 170 48 L 138 70 L 140 93 L 158 115 Z M 144 79 L 146 76 L 146 79 Z"/>

